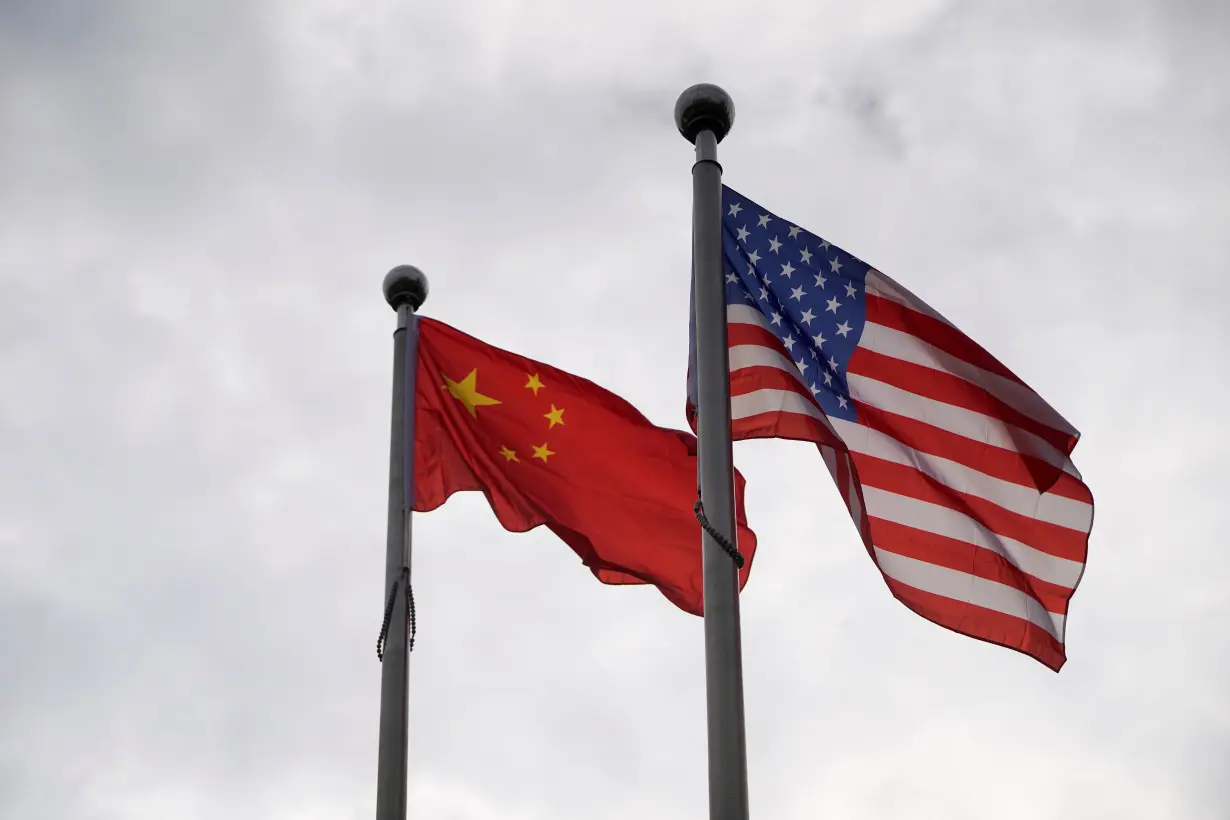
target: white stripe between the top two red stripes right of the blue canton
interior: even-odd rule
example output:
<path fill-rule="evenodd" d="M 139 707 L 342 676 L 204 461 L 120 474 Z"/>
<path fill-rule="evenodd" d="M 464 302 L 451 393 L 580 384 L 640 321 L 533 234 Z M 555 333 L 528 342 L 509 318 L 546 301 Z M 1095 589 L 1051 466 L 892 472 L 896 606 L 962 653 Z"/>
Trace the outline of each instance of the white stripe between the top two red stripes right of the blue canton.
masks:
<path fill-rule="evenodd" d="M 862 336 L 859 338 L 859 347 L 872 353 L 900 359 L 902 361 L 909 361 L 942 373 L 951 373 L 982 387 L 1005 404 L 1042 422 L 1047 427 L 1076 435 L 1076 428 L 1057 413 L 1042 396 L 1025 385 L 972 365 L 951 353 L 927 344 L 910 333 L 876 325 L 875 322 L 867 322 L 862 329 Z"/>

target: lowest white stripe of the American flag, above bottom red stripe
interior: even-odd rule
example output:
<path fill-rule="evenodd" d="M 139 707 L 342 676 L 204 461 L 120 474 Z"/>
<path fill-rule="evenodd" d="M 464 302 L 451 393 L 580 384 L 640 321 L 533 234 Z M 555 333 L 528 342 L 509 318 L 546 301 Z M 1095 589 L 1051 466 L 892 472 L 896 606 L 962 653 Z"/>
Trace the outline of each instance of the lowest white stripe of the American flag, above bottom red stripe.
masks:
<path fill-rule="evenodd" d="M 969 573 L 887 552 L 879 547 L 876 547 L 876 563 L 879 564 L 881 572 L 893 580 L 924 593 L 942 595 L 954 601 L 973 604 L 1030 621 L 1049 632 L 1059 643 L 1064 642 L 1064 616 L 1047 612 L 1037 599 L 1018 589 Z M 959 625 L 952 626 L 959 628 Z"/>

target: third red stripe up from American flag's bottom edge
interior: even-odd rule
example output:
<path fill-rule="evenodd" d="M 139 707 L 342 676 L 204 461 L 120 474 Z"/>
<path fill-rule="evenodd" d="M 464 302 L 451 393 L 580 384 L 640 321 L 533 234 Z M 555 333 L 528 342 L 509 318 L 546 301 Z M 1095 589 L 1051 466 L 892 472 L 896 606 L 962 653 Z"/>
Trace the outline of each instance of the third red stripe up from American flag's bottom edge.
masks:
<path fill-rule="evenodd" d="M 867 487 L 878 487 L 899 495 L 938 504 L 968 515 L 996 535 L 1026 543 L 1068 561 L 1085 562 L 1089 534 L 1070 530 L 1049 521 L 1039 521 L 1006 510 L 985 498 L 959 493 L 914 467 L 884 461 L 875 456 L 854 454 L 859 478 Z"/>

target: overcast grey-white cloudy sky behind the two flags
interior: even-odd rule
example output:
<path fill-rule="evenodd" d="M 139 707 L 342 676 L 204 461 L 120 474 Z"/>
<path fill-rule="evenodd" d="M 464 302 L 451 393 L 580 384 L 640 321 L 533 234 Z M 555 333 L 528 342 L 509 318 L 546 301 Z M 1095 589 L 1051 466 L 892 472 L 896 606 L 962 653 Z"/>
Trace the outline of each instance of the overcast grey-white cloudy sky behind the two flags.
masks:
<path fill-rule="evenodd" d="M 394 315 L 684 422 L 678 93 L 726 181 L 1084 433 L 1059 674 L 895 602 L 737 446 L 753 815 L 1230 814 L 1219 0 L 0 2 L 0 815 L 370 818 Z M 418 516 L 411 813 L 705 818 L 702 625 Z"/>

